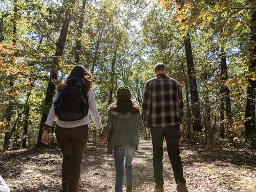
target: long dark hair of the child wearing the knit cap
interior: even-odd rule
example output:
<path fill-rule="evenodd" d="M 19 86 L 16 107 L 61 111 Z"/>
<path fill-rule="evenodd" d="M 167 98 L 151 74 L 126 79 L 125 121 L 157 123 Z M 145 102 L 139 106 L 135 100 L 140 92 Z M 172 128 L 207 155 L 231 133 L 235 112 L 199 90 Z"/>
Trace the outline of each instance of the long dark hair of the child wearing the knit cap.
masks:
<path fill-rule="evenodd" d="M 108 111 L 115 111 L 119 112 L 122 114 L 125 114 L 127 112 L 131 113 L 142 113 L 142 109 L 140 106 L 133 100 L 126 100 L 126 101 L 114 101 L 113 103 L 110 104 Z"/>

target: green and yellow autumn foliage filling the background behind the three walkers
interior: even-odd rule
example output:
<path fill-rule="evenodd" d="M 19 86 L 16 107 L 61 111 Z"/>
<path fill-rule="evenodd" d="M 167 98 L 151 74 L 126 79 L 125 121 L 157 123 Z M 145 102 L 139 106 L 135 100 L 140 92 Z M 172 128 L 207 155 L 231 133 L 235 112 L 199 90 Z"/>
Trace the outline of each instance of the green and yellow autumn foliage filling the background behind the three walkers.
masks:
<path fill-rule="evenodd" d="M 56 85 L 74 67 L 82 1 L 70 7 L 67 1 L 2 1 L 0 18 L 0 142 L 8 130 L 8 106 L 13 106 L 10 129 L 20 114 L 11 142 L 20 147 L 25 122 L 24 109 L 30 106 L 28 146 L 37 140 L 42 112 L 49 110 L 44 99 L 56 49 L 56 42 L 67 8 L 72 19 L 63 55 L 58 58 Z M 224 123 L 226 138 L 244 135 L 244 110 L 251 59 L 250 19 L 255 9 L 249 1 L 88 1 L 82 35 L 79 64 L 93 70 L 93 89 L 97 106 L 106 121 L 110 92 L 121 84 L 130 86 L 133 98 L 142 102 L 146 80 L 154 77 L 153 67 L 164 62 L 168 75 L 179 81 L 185 104 L 184 136 L 195 141 L 210 142 L 219 137 Z M 63 4 L 64 3 L 64 4 Z M 16 25 L 16 31 L 14 27 Z M 190 34 L 195 62 L 203 133 L 191 133 L 189 127 L 189 82 L 186 69 L 184 38 Z M 16 44 L 13 44 L 16 40 Z M 221 56 L 225 53 L 228 80 L 222 80 Z M 113 81 L 113 84 L 112 84 Z M 10 86 L 10 82 L 13 85 Z M 220 120 L 221 87 L 230 91 L 232 122 Z M 187 88 L 187 89 L 186 89 Z M 210 111 L 207 111 L 207 107 Z M 209 114 L 208 114 L 209 113 Z M 210 116 L 210 121 L 207 120 Z M 207 124 L 208 123 L 208 124 Z M 90 125 L 92 140 L 94 125 Z M 0 143 L 2 144 L 2 143 Z"/>

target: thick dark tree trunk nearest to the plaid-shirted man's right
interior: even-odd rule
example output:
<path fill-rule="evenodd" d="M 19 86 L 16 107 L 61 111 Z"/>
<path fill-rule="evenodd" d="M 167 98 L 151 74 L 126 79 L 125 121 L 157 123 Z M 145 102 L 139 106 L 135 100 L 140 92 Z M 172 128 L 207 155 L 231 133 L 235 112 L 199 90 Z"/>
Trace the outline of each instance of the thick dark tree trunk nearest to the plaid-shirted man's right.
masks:
<path fill-rule="evenodd" d="M 202 127 L 201 127 L 200 104 L 198 99 L 196 72 L 194 69 L 194 60 L 193 60 L 189 34 L 187 34 L 184 44 L 185 44 L 185 53 L 186 53 L 186 62 L 187 62 L 187 74 L 189 78 L 190 95 L 191 95 L 191 114 L 192 114 L 192 120 L 193 120 L 192 127 L 194 131 L 201 132 Z"/>

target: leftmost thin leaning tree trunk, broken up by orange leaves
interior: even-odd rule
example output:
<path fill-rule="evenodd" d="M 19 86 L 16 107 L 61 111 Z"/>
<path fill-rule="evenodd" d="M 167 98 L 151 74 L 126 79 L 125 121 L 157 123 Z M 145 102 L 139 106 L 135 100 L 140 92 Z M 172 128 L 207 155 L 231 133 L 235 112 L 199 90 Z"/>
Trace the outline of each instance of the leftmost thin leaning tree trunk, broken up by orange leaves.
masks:
<path fill-rule="evenodd" d="M 13 19 L 12 19 L 12 23 L 13 23 L 13 39 L 12 39 L 12 45 L 15 46 L 16 45 L 16 33 L 17 33 L 17 21 L 16 21 L 16 16 L 17 16 L 17 6 L 16 4 L 14 5 L 14 14 L 13 14 Z M 12 87 L 13 87 L 13 78 L 11 76 L 11 80 L 10 80 L 10 92 L 12 91 Z M 10 99 L 11 100 L 11 99 Z M 7 151 L 9 148 L 9 141 L 10 141 L 10 125 L 11 125 L 11 117 L 12 117 L 12 109 L 13 109 L 13 105 L 11 102 L 8 103 L 8 107 L 7 107 L 7 111 L 6 111 L 6 121 L 7 121 L 7 127 L 6 127 L 6 133 L 5 133 L 5 140 L 4 140 L 4 147 L 3 147 L 3 152 Z"/>

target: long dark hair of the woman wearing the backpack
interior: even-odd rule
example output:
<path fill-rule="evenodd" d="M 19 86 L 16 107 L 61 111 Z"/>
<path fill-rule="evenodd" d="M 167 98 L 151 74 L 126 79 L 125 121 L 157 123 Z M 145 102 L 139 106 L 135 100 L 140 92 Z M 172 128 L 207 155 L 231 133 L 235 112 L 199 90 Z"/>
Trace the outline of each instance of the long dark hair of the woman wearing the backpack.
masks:
<path fill-rule="evenodd" d="M 92 75 L 88 72 L 86 68 L 84 68 L 81 65 L 77 65 L 73 68 L 71 73 L 69 74 L 68 78 L 64 81 L 62 81 L 59 86 L 57 87 L 57 91 L 60 92 L 61 87 L 63 86 L 64 83 L 67 82 L 68 79 L 71 77 L 76 77 L 79 82 L 82 85 L 82 90 L 87 93 L 91 87 L 92 87 Z"/>

